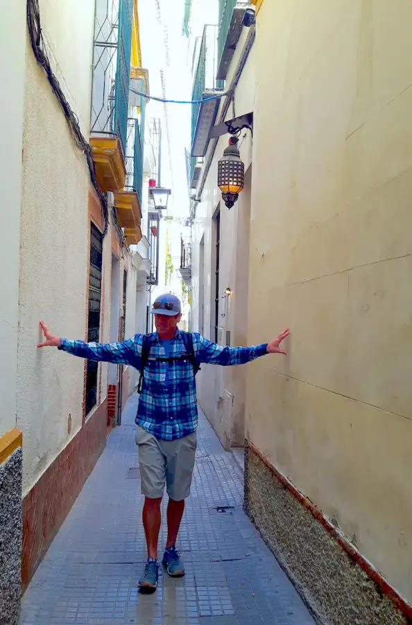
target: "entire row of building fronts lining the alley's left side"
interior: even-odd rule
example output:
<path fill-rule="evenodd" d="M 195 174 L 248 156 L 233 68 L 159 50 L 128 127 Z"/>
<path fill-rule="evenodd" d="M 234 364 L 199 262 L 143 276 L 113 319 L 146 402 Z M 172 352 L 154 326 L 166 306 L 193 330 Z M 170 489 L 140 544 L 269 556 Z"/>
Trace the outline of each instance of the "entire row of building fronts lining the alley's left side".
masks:
<path fill-rule="evenodd" d="M 21 579 L 24 589 L 136 382 L 127 367 L 37 350 L 39 320 L 61 336 L 101 342 L 146 331 L 148 179 L 157 160 L 150 111 L 136 94 L 148 93 L 137 0 L 18 0 L 5 15 L 2 58 L 17 52 L 1 67 L 11 91 L 0 105 L 9 120 L 0 532 L 10 551 L 0 621 L 14 624 Z"/>

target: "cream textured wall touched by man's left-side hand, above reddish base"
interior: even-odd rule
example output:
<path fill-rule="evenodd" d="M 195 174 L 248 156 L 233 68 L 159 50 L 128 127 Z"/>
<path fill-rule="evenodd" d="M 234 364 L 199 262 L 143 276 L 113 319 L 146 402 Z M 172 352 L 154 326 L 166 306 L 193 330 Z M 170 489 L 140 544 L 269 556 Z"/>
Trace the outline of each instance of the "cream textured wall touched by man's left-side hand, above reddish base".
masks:
<path fill-rule="evenodd" d="M 86 120 L 94 1 L 65 0 L 55 10 L 41 2 L 40 10 L 44 35 L 55 42 L 51 61 L 65 70 L 62 88 Z M 29 45 L 24 102 L 17 426 L 25 494 L 82 424 L 83 361 L 36 344 L 39 319 L 58 335 L 85 336 L 89 173 Z"/>

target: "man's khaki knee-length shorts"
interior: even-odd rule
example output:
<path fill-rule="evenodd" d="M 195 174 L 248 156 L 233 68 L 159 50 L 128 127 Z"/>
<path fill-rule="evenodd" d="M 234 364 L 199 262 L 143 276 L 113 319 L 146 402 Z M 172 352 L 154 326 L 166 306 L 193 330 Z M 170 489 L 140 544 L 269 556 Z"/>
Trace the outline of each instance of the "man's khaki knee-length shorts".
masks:
<path fill-rule="evenodd" d="M 163 497 L 165 484 L 171 499 L 181 501 L 189 497 L 196 440 L 196 432 L 177 440 L 159 440 L 137 426 L 141 492 L 145 497 Z"/>

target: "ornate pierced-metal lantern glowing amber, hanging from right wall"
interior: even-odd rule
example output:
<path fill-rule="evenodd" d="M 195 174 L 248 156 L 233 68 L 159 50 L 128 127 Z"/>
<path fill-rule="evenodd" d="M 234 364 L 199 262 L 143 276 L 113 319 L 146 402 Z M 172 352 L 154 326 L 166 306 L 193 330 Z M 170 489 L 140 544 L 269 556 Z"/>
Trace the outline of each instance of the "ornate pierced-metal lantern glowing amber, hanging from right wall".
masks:
<path fill-rule="evenodd" d="M 245 165 L 240 158 L 238 141 L 237 137 L 230 138 L 229 145 L 218 162 L 218 188 L 228 208 L 232 208 L 237 201 L 245 183 Z"/>

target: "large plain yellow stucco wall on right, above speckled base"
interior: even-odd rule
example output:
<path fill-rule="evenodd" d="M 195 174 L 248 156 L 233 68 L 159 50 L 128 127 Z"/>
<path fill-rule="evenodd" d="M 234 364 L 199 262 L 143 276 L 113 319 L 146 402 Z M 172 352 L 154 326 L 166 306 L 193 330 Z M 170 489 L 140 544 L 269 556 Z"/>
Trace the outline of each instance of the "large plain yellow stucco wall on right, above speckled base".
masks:
<path fill-rule="evenodd" d="M 411 20 L 408 0 L 259 11 L 248 342 L 292 334 L 248 367 L 246 410 L 247 437 L 409 601 Z"/>

